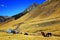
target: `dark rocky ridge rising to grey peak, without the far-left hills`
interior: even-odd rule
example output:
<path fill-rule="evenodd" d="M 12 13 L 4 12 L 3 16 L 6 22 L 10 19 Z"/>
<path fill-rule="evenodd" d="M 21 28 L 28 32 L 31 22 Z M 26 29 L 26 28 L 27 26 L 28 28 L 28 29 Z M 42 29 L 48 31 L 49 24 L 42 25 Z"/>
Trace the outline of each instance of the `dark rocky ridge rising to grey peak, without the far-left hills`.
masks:
<path fill-rule="evenodd" d="M 16 15 L 12 16 L 12 17 L 14 17 L 15 20 L 16 20 L 16 19 L 20 18 L 21 16 L 25 15 L 26 13 L 30 12 L 32 9 L 34 9 L 37 6 L 38 6 L 38 4 L 33 3 L 28 8 L 26 8 L 22 13 L 18 13 Z"/>

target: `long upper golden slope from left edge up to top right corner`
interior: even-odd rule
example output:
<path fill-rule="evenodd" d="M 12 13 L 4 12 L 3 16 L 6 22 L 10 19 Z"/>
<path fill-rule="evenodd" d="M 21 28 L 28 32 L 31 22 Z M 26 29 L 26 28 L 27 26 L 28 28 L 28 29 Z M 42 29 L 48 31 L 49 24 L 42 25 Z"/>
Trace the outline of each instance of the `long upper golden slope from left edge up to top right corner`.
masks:
<path fill-rule="evenodd" d="M 21 18 L 11 21 L 11 22 L 8 22 L 4 25 L 1 25 L 0 29 L 1 30 L 7 30 L 10 28 L 14 29 L 15 28 L 14 25 L 18 24 L 20 22 L 27 24 L 29 22 L 31 22 L 31 23 L 35 22 L 35 21 L 41 22 L 40 20 L 46 20 L 46 19 L 60 17 L 60 5 L 59 4 L 60 4 L 59 0 L 45 2 L 42 5 L 39 5 L 35 9 L 31 10 L 29 13 L 22 16 Z M 28 25 L 26 25 L 26 26 L 28 26 Z"/>

